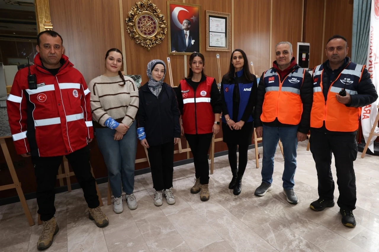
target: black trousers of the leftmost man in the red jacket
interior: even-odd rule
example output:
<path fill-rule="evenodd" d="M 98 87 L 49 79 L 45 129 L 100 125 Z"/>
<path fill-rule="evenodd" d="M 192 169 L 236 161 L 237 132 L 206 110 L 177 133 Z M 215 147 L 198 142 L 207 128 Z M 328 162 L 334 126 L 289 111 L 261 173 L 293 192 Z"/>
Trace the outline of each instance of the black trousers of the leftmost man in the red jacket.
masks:
<path fill-rule="evenodd" d="M 86 146 L 66 155 L 72 170 L 83 188 L 84 198 L 89 208 L 96 208 L 100 205 L 97 196 L 95 178 L 91 174 L 89 164 L 89 147 Z M 48 221 L 55 215 L 54 187 L 56 184 L 56 174 L 62 162 L 63 156 L 56 157 L 31 157 L 34 164 L 34 174 L 37 179 L 37 204 L 41 221 Z"/>

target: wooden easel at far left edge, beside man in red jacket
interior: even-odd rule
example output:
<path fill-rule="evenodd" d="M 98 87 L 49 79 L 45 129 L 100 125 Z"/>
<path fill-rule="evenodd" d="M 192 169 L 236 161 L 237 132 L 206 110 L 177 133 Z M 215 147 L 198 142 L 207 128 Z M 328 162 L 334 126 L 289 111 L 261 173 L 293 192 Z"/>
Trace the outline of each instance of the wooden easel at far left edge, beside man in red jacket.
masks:
<path fill-rule="evenodd" d="M 34 225 L 33 217 L 30 214 L 28 204 L 27 204 L 27 202 L 25 200 L 25 196 L 22 192 L 21 183 L 19 182 L 19 178 L 17 177 L 16 170 L 14 170 L 14 165 L 13 165 L 13 162 L 11 159 L 11 155 L 9 154 L 8 146 L 6 146 L 5 138 L 11 138 L 11 137 L 10 136 L 9 137 L 0 137 L 0 145 L 1 145 L 1 148 L 3 150 L 3 154 L 4 154 L 4 157 L 6 160 L 6 164 L 8 165 L 9 173 L 11 173 L 13 184 L 0 186 L 0 191 L 8 190 L 11 188 L 16 188 L 17 194 L 20 198 L 20 202 L 21 202 L 22 208 L 24 210 L 25 216 L 29 222 L 29 225 L 33 226 Z"/>

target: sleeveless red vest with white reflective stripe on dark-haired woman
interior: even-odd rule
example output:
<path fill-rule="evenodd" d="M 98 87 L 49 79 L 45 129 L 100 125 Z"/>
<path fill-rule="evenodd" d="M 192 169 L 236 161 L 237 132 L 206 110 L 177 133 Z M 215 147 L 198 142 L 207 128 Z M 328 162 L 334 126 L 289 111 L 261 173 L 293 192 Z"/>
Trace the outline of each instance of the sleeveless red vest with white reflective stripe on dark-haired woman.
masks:
<path fill-rule="evenodd" d="M 196 88 L 185 79 L 180 81 L 183 96 L 182 124 L 186 134 L 212 133 L 215 114 L 211 106 L 211 87 L 215 78 L 208 77 Z"/>

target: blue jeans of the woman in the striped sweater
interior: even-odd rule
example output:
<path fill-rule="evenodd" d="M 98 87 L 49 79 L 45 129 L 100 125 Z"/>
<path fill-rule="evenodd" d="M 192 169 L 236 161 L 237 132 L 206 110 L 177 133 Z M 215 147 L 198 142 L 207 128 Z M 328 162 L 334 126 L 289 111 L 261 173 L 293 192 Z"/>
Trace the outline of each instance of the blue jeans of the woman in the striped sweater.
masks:
<path fill-rule="evenodd" d="M 108 168 L 108 179 L 113 196 L 120 197 L 122 191 L 127 194 L 133 193 L 137 152 L 136 121 L 132 123 L 121 140 L 113 140 L 115 133 L 116 130 L 110 128 L 96 129 L 97 145 Z"/>

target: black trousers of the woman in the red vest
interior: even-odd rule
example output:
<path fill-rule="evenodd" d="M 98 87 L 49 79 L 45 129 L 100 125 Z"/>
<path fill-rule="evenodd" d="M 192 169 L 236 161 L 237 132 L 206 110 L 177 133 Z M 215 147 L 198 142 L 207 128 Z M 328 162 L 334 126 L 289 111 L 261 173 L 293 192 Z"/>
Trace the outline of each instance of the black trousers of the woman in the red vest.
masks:
<path fill-rule="evenodd" d="M 212 133 L 209 134 L 185 134 L 193 155 L 196 179 L 200 178 L 200 184 L 209 183 L 208 150 L 212 141 Z"/>

